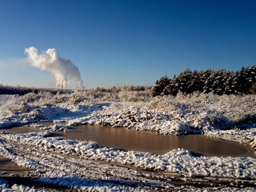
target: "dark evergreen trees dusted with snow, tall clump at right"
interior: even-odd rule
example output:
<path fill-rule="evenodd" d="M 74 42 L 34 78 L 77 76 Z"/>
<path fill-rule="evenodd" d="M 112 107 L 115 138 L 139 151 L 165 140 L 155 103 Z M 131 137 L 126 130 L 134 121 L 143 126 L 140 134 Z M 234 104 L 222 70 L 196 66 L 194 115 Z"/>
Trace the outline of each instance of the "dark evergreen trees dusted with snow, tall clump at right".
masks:
<path fill-rule="evenodd" d="M 256 66 L 242 67 L 239 71 L 206 69 L 191 71 L 186 69 L 179 75 L 168 78 L 166 75 L 156 80 L 151 89 L 157 95 L 177 95 L 178 92 L 222 94 L 256 93 Z"/>

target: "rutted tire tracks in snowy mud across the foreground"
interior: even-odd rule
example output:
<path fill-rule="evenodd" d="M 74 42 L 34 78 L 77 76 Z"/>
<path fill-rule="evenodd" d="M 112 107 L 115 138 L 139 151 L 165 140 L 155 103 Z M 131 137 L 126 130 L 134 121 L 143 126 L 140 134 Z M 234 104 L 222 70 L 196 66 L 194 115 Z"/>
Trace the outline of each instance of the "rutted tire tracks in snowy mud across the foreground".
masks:
<path fill-rule="evenodd" d="M 219 178 L 188 178 L 186 175 L 174 178 L 174 174 L 169 172 L 135 171 L 127 167 L 110 165 L 107 162 L 65 156 L 53 151 L 47 151 L 47 149 L 30 148 L 31 146 L 29 145 L 22 145 L 26 148 L 18 146 L 17 143 L 14 145 L 12 142 L 5 142 L 4 145 L 5 149 L 9 151 L 9 158 L 12 156 L 13 161 L 17 161 L 15 163 L 20 166 L 36 165 L 33 167 L 34 171 L 32 172 L 34 178 L 37 178 L 38 181 L 58 186 L 63 185 L 72 188 L 78 184 L 83 186 L 85 183 L 87 187 L 88 185 L 93 186 L 96 184 L 106 186 L 111 183 L 111 185 L 122 186 L 125 189 L 129 188 L 129 190 L 161 189 L 163 191 L 174 190 L 175 186 L 179 187 L 184 185 L 185 182 L 190 187 L 207 187 L 212 183 L 215 186 L 229 186 L 231 182 L 236 183 L 236 185 L 252 186 L 249 180 L 227 181 L 219 180 Z M 19 163 L 21 158 L 26 159 L 27 162 L 30 161 L 30 164 Z M 39 177 L 40 179 L 38 179 Z M 70 178 L 77 183 L 72 182 Z M 63 181 L 71 183 L 67 186 Z"/>

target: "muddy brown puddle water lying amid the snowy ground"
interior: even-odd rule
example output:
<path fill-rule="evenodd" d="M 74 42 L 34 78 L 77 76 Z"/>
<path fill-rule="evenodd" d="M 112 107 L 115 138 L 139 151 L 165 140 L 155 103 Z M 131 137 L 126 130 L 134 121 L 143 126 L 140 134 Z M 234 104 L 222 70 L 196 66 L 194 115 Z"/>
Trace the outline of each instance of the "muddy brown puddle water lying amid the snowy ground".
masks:
<path fill-rule="evenodd" d="M 43 123 L 46 124 L 46 123 Z M 47 125 L 53 123 L 47 123 Z M 54 132 L 53 137 L 70 140 L 92 140 L 102 147 L 112 147 L 123 150 L 137 150 L 163 155 L 172 149 L 183 148 L 197 155 L 253 157 L 250 146 L 243 146 L 237 142 L 225 141 L 204 135 L 160 135 L 155 132 L 127 130 L 123 127 L 108 127 L 97 125 L 78 125 L 70 127 L 71 132 Z M 14 133 L 39 131 L 36 127 L 16 127 Z"/>

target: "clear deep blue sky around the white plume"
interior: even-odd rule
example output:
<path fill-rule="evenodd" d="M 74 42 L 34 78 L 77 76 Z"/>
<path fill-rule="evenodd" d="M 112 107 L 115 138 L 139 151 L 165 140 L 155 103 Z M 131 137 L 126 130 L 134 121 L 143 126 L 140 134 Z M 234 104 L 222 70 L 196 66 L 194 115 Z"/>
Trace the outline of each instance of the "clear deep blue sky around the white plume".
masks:
<path fill-rule="evenodd" d="M 256 1 L 0 0 L 0 84 L 55 87 L 24 50 L 57 49 L 86 89 L 256 65 Z M 72 84 L 73 87 L 75 84 Z"/>

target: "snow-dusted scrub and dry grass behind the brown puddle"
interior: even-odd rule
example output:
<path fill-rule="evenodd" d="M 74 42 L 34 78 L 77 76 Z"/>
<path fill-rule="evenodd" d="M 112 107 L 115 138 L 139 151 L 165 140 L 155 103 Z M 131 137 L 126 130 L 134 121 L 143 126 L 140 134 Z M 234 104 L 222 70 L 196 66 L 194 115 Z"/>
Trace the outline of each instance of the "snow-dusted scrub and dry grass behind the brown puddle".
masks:
<path fill-rule="evenodd" d="M 95 93 L 97 94 L 97 93 Z M 212 130 L 246 129 L 256 124 L 256 95 L 216 95 L 178 92 L 174 97 L 149 97 L 148 91 L 71 94 L 29 93 L 2 105 L 1 126 L 18 122 L 52 121 L 76 114 L 75 124 L 124 126 L 161 134 L 206 133 Z M 82 119 L 80 119 L 82 117 Z M 167 118 L 166 118 L 167 117 Z"/>

